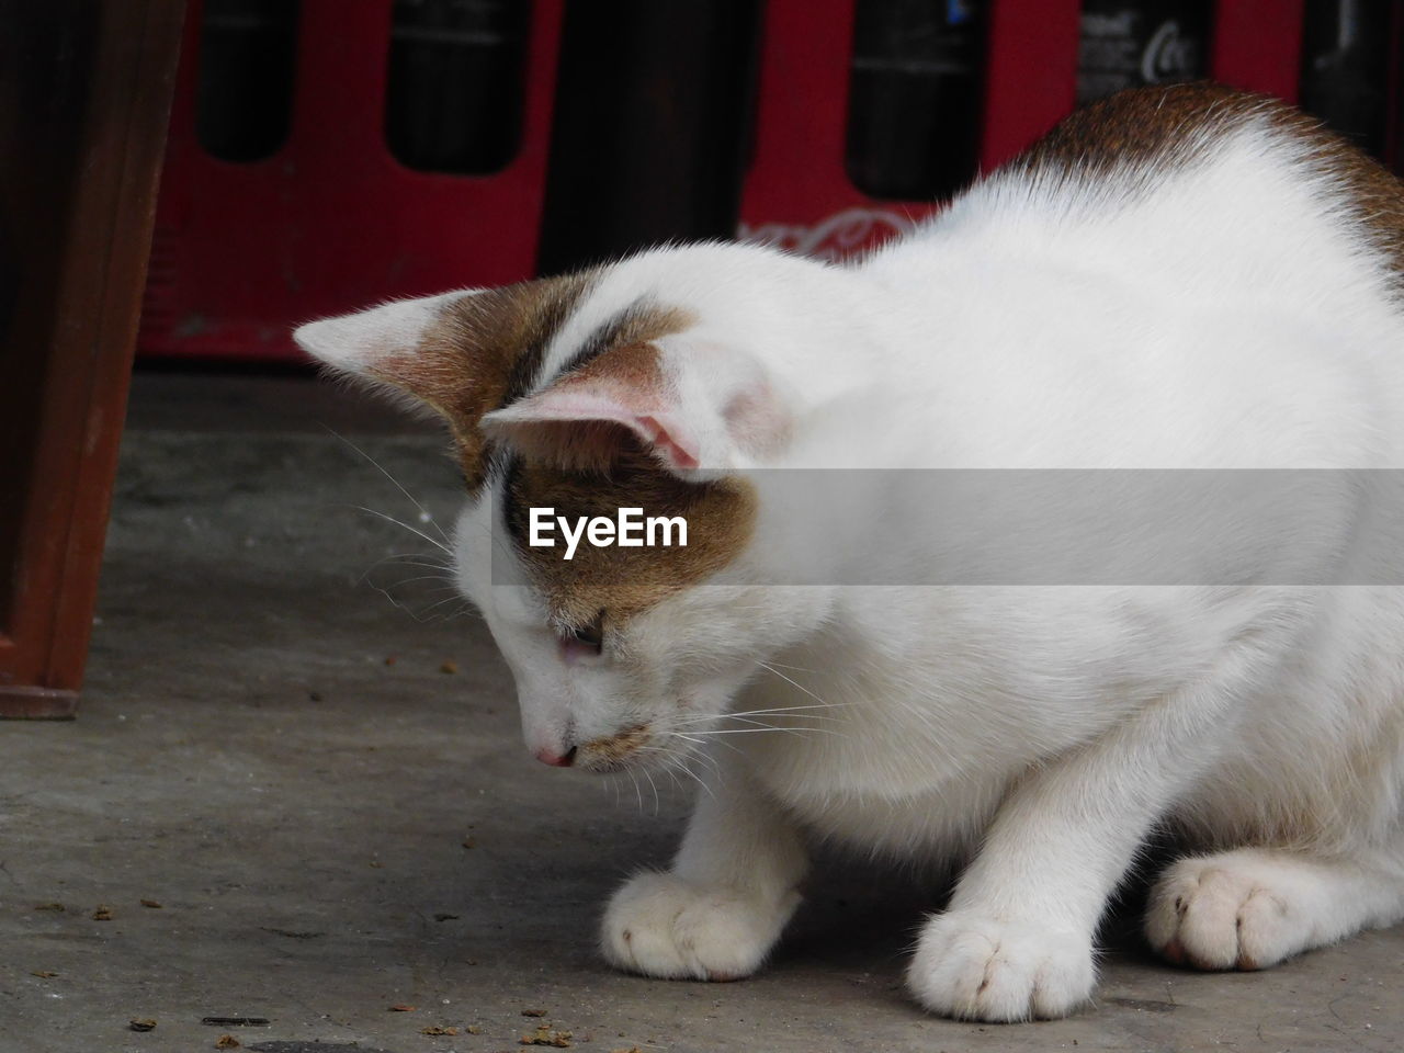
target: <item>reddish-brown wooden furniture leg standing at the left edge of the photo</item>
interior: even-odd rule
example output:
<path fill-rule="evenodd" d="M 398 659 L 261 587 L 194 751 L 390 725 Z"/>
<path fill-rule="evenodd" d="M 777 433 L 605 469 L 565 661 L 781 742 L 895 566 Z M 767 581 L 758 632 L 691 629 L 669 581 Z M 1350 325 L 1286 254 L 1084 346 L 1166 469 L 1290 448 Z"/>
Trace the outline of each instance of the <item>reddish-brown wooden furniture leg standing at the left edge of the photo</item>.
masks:
<path fill-rule="evenodd" d="M 0 0 L 0 716 L 70 717 L 183 0 Z"/>

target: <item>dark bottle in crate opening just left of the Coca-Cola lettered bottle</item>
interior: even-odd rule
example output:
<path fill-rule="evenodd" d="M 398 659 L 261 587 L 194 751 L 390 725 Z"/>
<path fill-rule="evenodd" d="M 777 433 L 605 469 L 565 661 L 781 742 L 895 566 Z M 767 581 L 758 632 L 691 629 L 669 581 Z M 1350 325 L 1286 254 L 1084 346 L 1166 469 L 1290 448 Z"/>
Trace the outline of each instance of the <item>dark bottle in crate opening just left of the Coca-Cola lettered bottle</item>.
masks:
<path fill-rule="evenodd" d="M 976 174 L 984 0 L 858 0 L 848 178 L 875 198 L 949 197 Z"/>

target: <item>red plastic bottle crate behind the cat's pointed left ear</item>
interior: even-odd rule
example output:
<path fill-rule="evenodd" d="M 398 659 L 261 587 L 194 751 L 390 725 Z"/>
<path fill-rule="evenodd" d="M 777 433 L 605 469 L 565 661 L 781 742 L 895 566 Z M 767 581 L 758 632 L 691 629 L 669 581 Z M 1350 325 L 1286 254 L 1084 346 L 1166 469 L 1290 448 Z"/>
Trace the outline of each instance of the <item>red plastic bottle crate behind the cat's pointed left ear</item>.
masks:
<path fill-rule="evenodd" d="M 402 166 L 385 142 L 392 0 L 303 0 L 286 143 L 229 163 L 195 136 L 199 0 L 187 32 L 139 350 L 296 359 L 289 329 L 369 302 L 500 285 L 535 267 L 563 0 L 535 0 L 521 145 L 493 176 Z"/>

